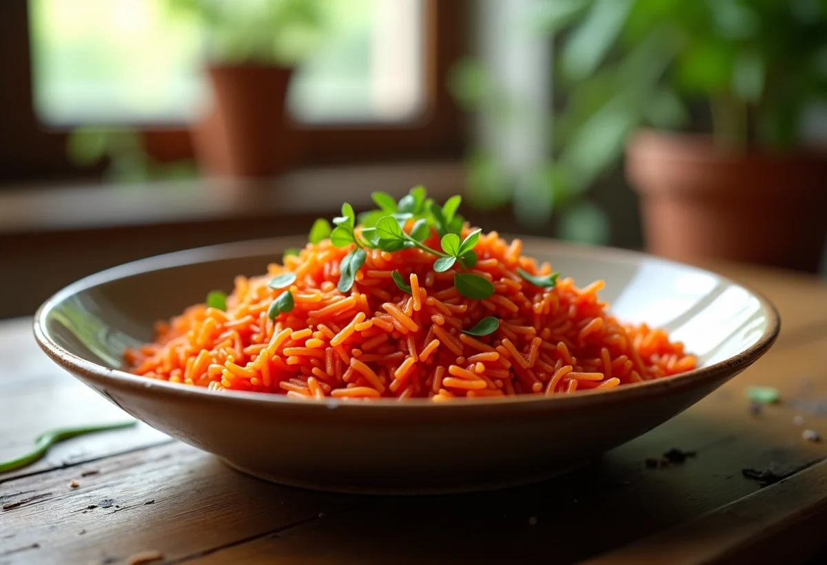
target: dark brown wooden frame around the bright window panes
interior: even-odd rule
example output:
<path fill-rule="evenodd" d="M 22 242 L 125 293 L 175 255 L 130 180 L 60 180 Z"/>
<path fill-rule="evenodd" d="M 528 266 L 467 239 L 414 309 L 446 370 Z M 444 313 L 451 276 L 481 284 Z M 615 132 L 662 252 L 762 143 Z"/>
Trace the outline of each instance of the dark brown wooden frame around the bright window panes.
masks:
<path fill-rule="evenodd" d="M 467 0 L 423 0 L 424 110 L 397 123 L 313 124 L 301 165 L 453 158 L 466 137 L 462 112 L 447 89 L 447 74 L 466 54 Z M 0 2 L 0 182 L 27 178 L 88 176 L 66 158 L 67 131 L 49 128 L 35 112 L 31 81 L 28 2 Z M 155 159 L 190 159 L 193 146 L 184 125 L 136 125 Z"/>

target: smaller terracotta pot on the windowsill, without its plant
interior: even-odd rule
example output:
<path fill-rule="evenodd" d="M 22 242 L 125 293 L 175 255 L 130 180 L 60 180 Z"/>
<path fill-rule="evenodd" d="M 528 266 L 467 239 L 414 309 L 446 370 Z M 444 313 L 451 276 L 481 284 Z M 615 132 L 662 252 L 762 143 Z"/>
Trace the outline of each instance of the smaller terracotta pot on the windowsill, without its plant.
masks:
<path fill-rule="evenodd" d="M 285 111 L 292 75 L 293 69 L 262 64 L 208 67 L 213 106 L 193 129 L 205 173 L 266 177 L 298 161 L 304 133 Z"/>

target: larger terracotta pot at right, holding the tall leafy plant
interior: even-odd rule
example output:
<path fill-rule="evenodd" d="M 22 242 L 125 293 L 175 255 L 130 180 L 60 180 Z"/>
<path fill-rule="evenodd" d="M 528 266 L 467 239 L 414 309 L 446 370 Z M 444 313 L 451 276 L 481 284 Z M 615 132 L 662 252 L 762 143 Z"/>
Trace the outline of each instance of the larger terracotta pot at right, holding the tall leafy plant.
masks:
<path fill-rule="evenodd" d="M 641 131 L 626 150 L 648 251 L 817 271 L 827 155 L 722 150 L 710 137 Z"/>

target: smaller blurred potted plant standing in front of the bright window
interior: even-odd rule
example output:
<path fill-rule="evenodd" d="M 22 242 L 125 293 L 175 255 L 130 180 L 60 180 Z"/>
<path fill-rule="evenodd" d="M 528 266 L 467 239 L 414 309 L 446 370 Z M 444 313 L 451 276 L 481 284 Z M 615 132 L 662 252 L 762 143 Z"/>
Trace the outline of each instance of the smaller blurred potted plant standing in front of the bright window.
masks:
<path fill-rule="evenodd" d="M 293 164 L 303 136 L 285 102 L 294 69 L 321 35 L 317 0 L 175 0 L 206 35 L 212 106 L 193 128 L 201 167 L 221 176 L 264 177 Z"/>

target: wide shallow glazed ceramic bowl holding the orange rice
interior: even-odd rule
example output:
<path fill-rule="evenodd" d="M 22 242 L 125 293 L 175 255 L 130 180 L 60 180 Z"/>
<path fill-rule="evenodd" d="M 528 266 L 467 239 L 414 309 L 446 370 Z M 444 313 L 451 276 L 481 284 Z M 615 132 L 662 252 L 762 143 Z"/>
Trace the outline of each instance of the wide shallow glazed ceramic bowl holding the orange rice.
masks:
<path fill-rule="evenodd" d="M 233 467 L 298 487 L 448 492 L 553 477 L 598 458 L 692 406 L 767 352 L 779 319 L 766 299 L 715 273 L 617 249 L 523 238 L 601 297 L 621 320 L 669 330 L 699 357 L 676 377 L 605 392 L 448 403 L 294 401 L 125 373 L 122 353 L 238 274 L 264 273 L 286 238 L 193 249 L 112 268 L 46 301 L 36 339 L 55 363 L 139 420 Z"/>

